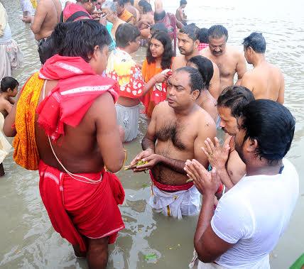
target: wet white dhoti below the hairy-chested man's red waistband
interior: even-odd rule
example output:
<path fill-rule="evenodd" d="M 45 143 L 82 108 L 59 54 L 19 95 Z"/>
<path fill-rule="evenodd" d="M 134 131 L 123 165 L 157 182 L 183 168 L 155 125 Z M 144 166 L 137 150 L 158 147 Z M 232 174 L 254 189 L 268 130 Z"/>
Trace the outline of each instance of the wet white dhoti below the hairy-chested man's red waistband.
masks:
<path fill-rule="evenodd" d="M 195 216 L 200 213 L 200 192 L 195 186 L 189 190 L 165 192 L 152 185 L 149 204 L 158 213 L 182 219 L 182 216 Z"/>

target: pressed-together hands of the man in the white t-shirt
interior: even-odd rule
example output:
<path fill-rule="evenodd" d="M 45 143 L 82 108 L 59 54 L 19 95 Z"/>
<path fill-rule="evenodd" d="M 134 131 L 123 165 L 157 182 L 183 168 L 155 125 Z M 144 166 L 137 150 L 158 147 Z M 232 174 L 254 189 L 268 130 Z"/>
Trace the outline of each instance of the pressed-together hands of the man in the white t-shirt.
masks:
<path fill-rule="evenodd" d="M 215 195 L 222 184 L 215 168 L 212 169 L 212 172 L 208 172 L 197 160 L 187 160 L 185 171 L 193 180 L 197 190 L 203 195 Z"/>

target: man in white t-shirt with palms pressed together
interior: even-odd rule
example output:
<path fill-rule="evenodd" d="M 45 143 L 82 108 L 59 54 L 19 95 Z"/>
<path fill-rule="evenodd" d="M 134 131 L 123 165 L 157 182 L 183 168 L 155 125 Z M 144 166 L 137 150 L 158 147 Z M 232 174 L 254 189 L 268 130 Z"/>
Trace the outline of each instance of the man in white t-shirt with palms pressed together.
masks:
<path fill-rule="evenodd" d="M 295 121 L 286 107 L 259 99 L 238 119 L 235 148 L 246 175 L 213 211 L 220 178 L 195 160 L 185 170 L 204 199 L 195 232 L 198 268 L 268 269 L 268 254 L 285 231 L 298 199 L 298 173 L 284 156 Z"/>

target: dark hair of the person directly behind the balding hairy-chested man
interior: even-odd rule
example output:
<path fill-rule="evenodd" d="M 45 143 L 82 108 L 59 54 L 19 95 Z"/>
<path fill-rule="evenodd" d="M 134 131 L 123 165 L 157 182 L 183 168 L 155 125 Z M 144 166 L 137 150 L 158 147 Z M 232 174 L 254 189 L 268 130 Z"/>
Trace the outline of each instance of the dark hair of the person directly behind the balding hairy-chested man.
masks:
<path fill-rule="evenodd" d="M 192 62 L 197 66 L 197 70 L 202 76 L 202 89 L 209 89 L 210 80 L 212 79 L 214 72 L 212 62 L 206 57 L 200 55 L 190 58 L 188 62 Z"/>

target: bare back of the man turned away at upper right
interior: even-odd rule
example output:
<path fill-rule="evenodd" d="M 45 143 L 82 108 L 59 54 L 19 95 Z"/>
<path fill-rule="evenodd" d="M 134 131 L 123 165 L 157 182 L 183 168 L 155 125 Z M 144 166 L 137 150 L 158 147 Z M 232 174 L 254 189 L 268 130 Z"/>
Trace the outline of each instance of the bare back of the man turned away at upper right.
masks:
<path fill-rule="evenodd" d="M 271 99 L 283 104 L 284 77 L 281 70 L 268 62 L 263 62 L 249 72 L 241 80 L 241 86 L 253 92 L 256 99 Z"/>

